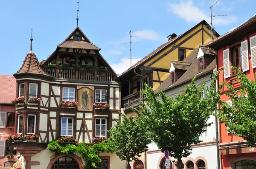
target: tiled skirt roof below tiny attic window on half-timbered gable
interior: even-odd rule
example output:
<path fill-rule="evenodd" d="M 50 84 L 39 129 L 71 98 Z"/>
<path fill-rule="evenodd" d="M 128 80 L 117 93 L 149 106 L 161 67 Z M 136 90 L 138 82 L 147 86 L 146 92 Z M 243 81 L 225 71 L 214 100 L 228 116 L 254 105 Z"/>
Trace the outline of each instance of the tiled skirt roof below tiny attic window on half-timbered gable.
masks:
<path fill-rule="evenodd" d="M 90 42 L 77 42 L 77 41 L 64 41 L 61 42 L 61 44 L 58 45 L 58 47 L 61 48 L 76 48 L 76 49 L 92 49 L 92 50 L 100 50 L 99 47 L 96 45 L 93 45 L 93 43 Z"/>

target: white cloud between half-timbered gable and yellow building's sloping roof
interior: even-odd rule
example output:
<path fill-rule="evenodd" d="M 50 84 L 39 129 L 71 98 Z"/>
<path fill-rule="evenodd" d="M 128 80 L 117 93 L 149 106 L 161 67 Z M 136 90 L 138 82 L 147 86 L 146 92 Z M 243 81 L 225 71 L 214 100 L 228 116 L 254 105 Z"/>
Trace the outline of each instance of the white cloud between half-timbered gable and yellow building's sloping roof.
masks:
<path fill-rule="evenodd" d="M 129 57 L 124 57 L 121 59 L 121 62 L 119 63 L 113 63 L 111 64 L 111 68 L 115 70 L 116 74 L 121 74 L 125 70 L 131 67 L 131 65 L 134 65 L 138 61 L 140 61 L 142 58 L 136 58 L 136 59 L 131 59 Z"/>

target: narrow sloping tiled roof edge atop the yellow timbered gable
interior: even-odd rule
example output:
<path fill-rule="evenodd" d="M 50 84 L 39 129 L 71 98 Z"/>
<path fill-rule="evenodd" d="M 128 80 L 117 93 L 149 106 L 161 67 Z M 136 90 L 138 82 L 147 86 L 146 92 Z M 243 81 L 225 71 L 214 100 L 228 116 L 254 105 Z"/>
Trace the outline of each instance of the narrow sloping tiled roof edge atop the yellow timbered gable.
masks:
<path fill-rule="evenodd" d="M 121 76 L 123 76 L 125 73 L 127 73 L 128 71 L 132 70 L 133 68 L 143 64 L 144 62 L 148 61 L 149 59 L 151 59 L 152 57 L 154 57 L 156 54 L 158 54 L 160 51 L 163 51 L 165 48 L 169 47 L 170 45 L 174 44 L 178 39 L 182 38 L 183 36 L 185 36 L 186 34 L 188 34 L 190 31 L 192 31 L 193 29 L 195 29 L 196 27 L 198 27 L 199 25 L 204 24 L 206 25 L 206 27 L 210 30 L 210 25 L 205 21 L 202 20 L 200 23 L 196 24 L 195 26 L 193 26 L 192 28 L 190 28 L 189 30 L 187 30 L 186 32 L 184 32 L 183 34 L 180 34 L 179 36 L 175 37 L 174 39 L 169 40 L 168 42 L 164 43 L 163 45 L 159 46 L 156 50 L 152 51 L 150 54 L 148 54 L 147 56 L 145 56 L 143 59 L 141 59 L 139 62 L 135 63 L 131 68 L 129 68 L 128 70 L 125 70 Z M 216 32 L 215 30 L 213 30 L 214 32 Z M 215 33 L 216 37 L 219 37 L 220 35 L 216 32 Z M 119 76 L 120 77 L 120 76 Z"/>

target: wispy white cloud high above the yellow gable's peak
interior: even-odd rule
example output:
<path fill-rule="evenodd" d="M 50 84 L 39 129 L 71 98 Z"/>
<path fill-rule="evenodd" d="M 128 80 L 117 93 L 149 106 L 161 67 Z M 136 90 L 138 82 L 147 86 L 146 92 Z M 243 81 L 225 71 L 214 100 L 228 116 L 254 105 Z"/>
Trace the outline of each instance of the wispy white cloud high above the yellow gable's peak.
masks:
<path fill-rule="evenodd" d="M 210 23 L 210 16 L 204 10 L 198 8 L 192 0 L 180 0 L 180 3 L 169 3 L 169 12 L 172 12 L 188 23 L 198 23 L 201 20 L 206 20 Z M 214 17 L 214 24 L 228 25 L 236 22 L 235 16 L 229 17 Z"/>

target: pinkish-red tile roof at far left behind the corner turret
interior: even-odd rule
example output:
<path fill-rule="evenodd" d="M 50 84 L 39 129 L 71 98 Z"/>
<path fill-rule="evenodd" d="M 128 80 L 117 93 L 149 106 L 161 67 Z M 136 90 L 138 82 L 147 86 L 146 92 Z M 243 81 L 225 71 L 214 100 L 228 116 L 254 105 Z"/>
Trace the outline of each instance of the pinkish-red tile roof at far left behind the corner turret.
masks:
<path fill-rule="evenodd" d="M 0 75 L 0 86 L 0 103 L 10 103 L 16 97 L 15 77 Z"/>

